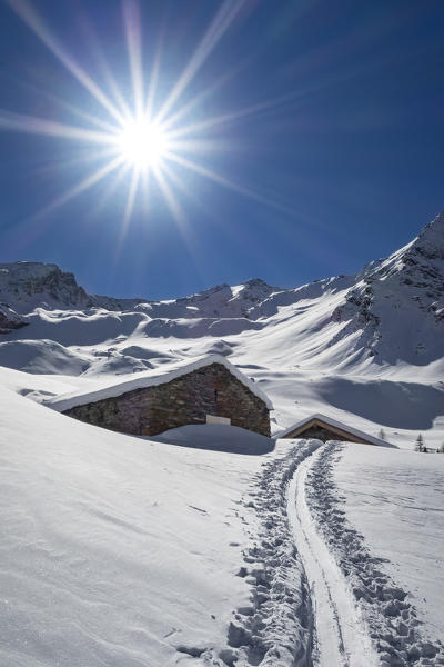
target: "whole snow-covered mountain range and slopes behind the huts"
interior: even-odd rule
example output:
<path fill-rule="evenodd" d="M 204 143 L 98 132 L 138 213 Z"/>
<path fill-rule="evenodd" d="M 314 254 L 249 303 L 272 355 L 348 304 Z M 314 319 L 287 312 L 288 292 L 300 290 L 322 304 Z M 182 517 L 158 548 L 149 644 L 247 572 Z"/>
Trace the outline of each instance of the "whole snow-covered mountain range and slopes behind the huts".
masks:
<path fill-rule="evenodd" d="M 78 385 L 216 352 L 264 384 L 280 426 L 345 411 L 428 429 L 444 405 L 443 287 L 444 213 L 356 276 L 294 289 L 251 279 L 167 301 L 114 299 L 54 265 L 1 265 L 0 365 Z"/>

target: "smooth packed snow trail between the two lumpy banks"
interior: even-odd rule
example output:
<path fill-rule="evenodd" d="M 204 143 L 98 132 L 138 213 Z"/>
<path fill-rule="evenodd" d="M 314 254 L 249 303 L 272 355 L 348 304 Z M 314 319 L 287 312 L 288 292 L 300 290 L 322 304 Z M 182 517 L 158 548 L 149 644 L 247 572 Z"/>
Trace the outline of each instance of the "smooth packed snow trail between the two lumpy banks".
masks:
<path fill-rule="evenodd" d="M 305 498 L 309 469 L 325 447 L 303 460 L 289 485 L 287 514 L 309 579 L 315 617 L 314 664 L 319 667 L 376 667 L 365 624 L 349 584 L 317 532 Z"/>

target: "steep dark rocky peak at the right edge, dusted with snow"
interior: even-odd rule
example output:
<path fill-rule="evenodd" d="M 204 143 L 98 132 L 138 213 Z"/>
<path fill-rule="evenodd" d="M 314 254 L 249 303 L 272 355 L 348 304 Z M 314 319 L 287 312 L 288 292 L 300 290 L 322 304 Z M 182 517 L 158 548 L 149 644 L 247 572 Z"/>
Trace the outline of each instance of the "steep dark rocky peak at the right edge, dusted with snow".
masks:
<path fill-rule="evenodd" d="M 365 267 L 332 319 L 344 322 L 332 345 L 359 334 L 351 351 L 391 362 L 396 355 L 413 364 L 434 357 L 435 342 L 444 336 L 444 213 L 411 243 Z M 395 339 L 401 322 L 410 349 Z"/>

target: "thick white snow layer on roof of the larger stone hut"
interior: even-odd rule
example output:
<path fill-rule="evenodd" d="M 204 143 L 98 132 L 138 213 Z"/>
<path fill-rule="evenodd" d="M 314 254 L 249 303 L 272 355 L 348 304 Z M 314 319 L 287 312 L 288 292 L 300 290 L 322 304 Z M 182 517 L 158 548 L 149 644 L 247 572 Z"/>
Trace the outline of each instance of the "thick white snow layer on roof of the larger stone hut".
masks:
<path fill-rule="evenodd" d="M 131 380 L 124 380 L 122 382 L 107 384 L 100 389 L 84 392 L 64 394 L 60 397 L 53 398 L 47 402 L 50 408 L 64 412 L 77 406 L 83 406 L 85 404 L 95 402 L 105 398 L 113 398 L 132 391 L 133 389 L 143 389 L 145 387 L 154 387 L 157 385 L 164 385 L 175 378 L 183 375 L 198 370 L 204 366 L 211 366 L 212 364 L 221 364 L 224 366 L 238 380 L 240 380 L 245 387 L 252 391 L 258 398 L 264 401 L 269 410 L 273 409 L 273 405 L 269 397 L 259 388 L 256 385 L 241 372 L 233 364 L 230 364 L 221 355 L 206 355 L 204 357 L 195 358 L 190 362 L 189 359 L 181 359 L 175 364 L 169 364 L 168 368 L 154 368 L 145 372 L 138 374 L 135 378 Z"/>

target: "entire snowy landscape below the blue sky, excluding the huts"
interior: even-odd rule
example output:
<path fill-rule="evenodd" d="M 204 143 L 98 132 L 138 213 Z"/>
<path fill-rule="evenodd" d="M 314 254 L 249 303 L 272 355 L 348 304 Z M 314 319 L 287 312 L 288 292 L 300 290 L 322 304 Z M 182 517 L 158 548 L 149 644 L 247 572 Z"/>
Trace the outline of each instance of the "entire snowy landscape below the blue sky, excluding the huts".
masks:
<path fill-rule="evenodd" d="M 271 399 L 276 440 L 49 407 L 203 355 Z M 444 665 L 443 378 L 444 213 L 294 289 L 117 299 L 0 265 L 1 664 Z M 315 412 L 395 447 L 279 439 Z"/>

